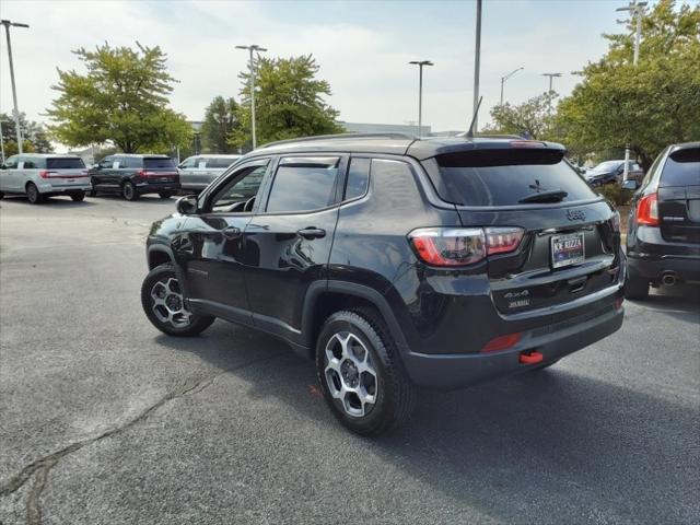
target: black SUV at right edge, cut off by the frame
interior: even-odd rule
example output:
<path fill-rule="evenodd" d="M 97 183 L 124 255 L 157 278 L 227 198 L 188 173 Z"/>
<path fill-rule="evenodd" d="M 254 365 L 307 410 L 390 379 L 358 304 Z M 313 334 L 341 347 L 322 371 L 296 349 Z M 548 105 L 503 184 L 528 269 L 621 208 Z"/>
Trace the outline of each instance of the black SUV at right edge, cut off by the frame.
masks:
<path fill-rule="evenodd" d="M 632 200 L 628 230 L 628 298 L 646 298 L 650 284 L 700 281 L 700 142 L 669 145 L 656 158 Z"/>

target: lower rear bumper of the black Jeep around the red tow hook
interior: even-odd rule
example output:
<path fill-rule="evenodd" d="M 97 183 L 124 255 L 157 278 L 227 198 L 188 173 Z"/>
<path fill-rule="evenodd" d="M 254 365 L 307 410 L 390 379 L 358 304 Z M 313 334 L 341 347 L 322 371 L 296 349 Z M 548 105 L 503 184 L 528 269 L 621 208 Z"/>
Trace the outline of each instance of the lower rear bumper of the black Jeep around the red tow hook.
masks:
<path fill-rule="evenodd" d="M 469 354 L 424 354 L 408 352 L 404 364 L 420 386 L 439 389 L 462 388 L 485 381 L 525 372 L 581 350 L 617 331 L 622 325 L 622 307 L 607 307 L 567 322 L 523 334 L 520 342 L 505 351 Z M 541 363 L 522 364 L 520 354 L 538 351 Z"/>

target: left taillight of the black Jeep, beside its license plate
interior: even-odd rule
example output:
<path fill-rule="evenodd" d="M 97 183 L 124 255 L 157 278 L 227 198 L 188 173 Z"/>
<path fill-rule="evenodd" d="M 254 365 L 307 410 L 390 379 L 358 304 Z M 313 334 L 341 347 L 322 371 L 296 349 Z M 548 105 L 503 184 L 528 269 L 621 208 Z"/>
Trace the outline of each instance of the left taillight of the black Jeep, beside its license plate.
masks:
<path fill-rule="evenodd" d="M 409 234 L 416 253 L 431 266 L 466 266 L 488 255 L 513 252 L 524 231 L 520 228 L 420 228 Z"/>

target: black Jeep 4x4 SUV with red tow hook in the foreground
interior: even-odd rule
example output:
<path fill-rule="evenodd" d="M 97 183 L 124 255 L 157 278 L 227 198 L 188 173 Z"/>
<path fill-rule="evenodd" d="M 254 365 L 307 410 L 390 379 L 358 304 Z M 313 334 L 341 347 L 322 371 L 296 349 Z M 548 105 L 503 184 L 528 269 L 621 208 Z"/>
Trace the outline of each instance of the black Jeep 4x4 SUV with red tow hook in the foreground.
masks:
<path fill-rule="evenodd" d="M 331 136 L 244 156 L 153 224 L 143 308 L 215 317 L 316 361 L 336 417 L 377 434 L 416 387 L 548 366 L 622 323 L 619 215 L 559 144 Z"/>

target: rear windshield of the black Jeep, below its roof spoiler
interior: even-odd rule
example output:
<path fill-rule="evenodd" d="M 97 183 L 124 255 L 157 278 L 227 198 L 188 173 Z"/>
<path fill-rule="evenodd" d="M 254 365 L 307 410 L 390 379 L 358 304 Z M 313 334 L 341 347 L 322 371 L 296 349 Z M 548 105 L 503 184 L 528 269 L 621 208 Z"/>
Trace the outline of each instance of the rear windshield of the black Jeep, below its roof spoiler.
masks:
<path fill-rule="evenodd" d="M 472 150 L 438 155 L 424 165 L 440 197 L 457 205 L 515 206 L 542 191 L 565 191 L 563 202 L 596 197 L 561 150 Z"/>

